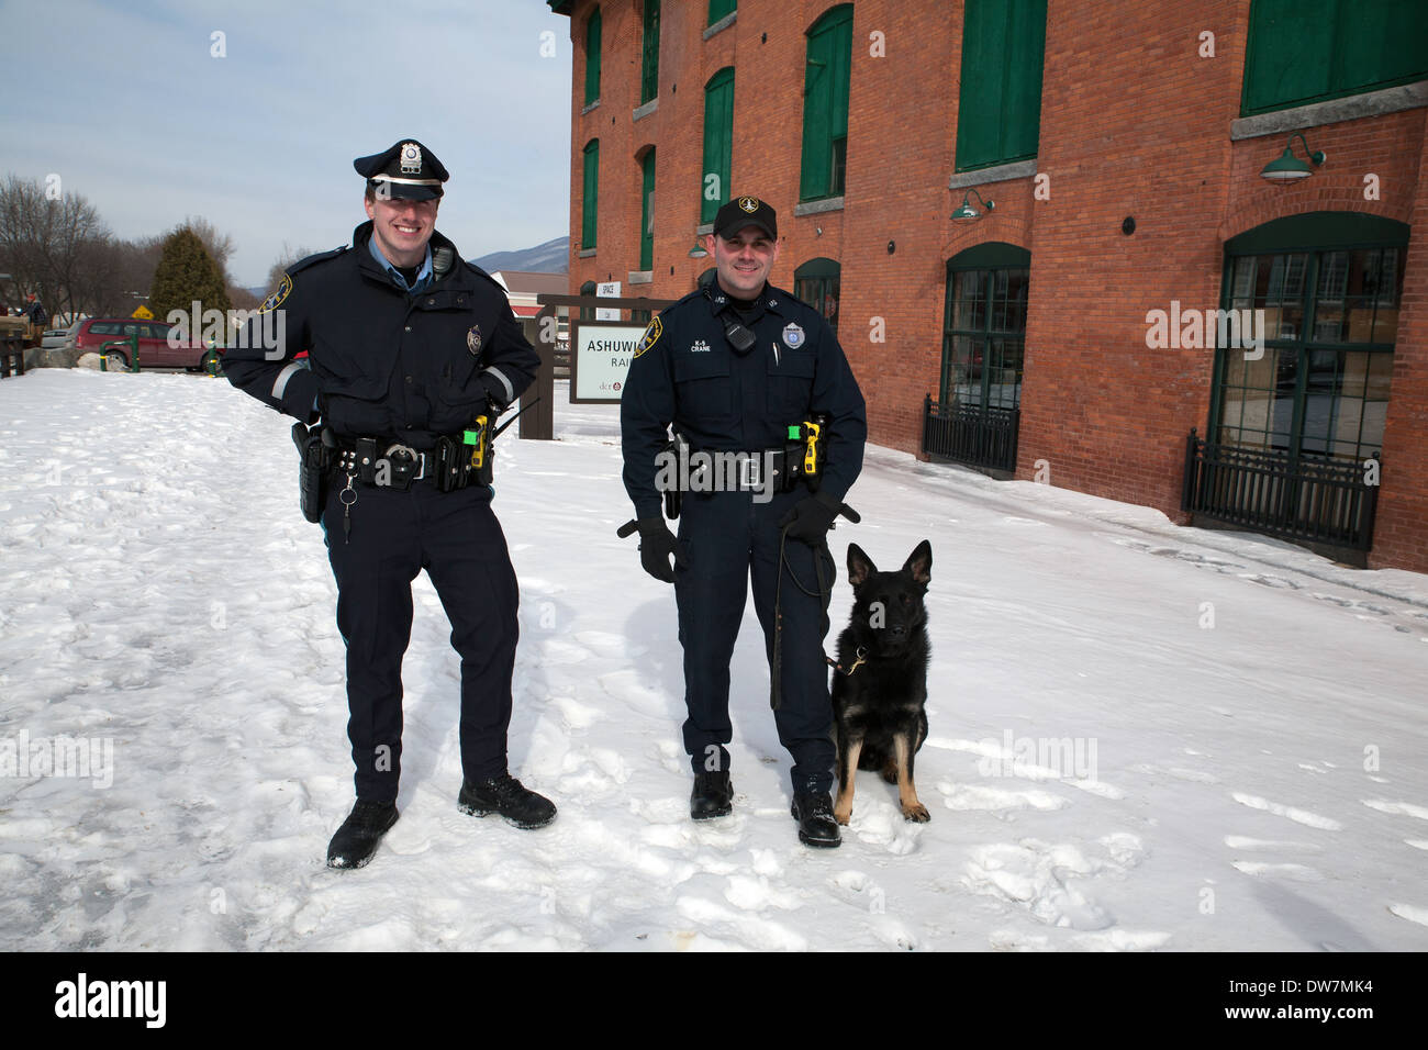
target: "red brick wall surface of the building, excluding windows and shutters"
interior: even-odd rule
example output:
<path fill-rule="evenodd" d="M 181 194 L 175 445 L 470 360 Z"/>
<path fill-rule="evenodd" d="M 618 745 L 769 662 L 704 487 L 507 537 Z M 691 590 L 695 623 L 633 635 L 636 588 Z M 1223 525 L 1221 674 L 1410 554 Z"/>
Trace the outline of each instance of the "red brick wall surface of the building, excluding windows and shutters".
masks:
<path fill-rule="evenodd" d="M 707 6 L 663 6 L 658 110 L 638 121 L 641 0 L 605 0 L 601 101 L 581 116 L 584 21 L 577 0 L 571 134 L 571 287 L 620 280 L 627 294 L 677 299 L 708 259 L 691 260 L 703 169 L 704 84 L 734 66 L 733 194 L 778 209 L 774 283 L 824 256 L 843 264 L 840 339 L 868 400 L 871 440 L 917 453 L 922 396 L 937 390 L 947 260 L 1001 240 L 1031 251 L 1017 476 L 1050 466 L 1055 486 L 1157 507 L 1182 520 L 1185 437 L 1204 433 L 1214 350 L 1151 350 L 1150 310 L 1212 310 L 1224 241 L 1314 210 L 1411 223 L 1405 301 L 1384 449 L 1374 566 L 1428 570 L 1428 203 L 1419 183 L 1425 110 L 1307 131 L 1328 161 L 1271 184 L 1259 169 L 1287 134 L 1231 141 L 1240 116 L 1250 0 L 1182 4 L 1050 0 L 1038 180 L 980 186 L 995 201 L 950 221 L 962 1 L 858 0 L 853 20 L 845 207 L 795 217 L 807 30 L 834 0 L 741 0 L 737 21 L 703 40 Z M 1201 57 L 1201 33 L 1215 57 Z M 767 39 L 765 39 L 767 34 Z M 874 57 L 881 34 L 884 57 Z M 578 257 L 581 150 L 601 140 L 600 243 Z M 657 147 L 653 284 L 638 266 L 638 154 Z M 1365 173 L 1381 200 L 1364 200 Z M 1035 200 L 1050 179 L 1050 200 Z M 1137 223 L 1121 233 L 1125 217 Z M 895 246 L 888 251 L 888 243 Z M 885 341 L 870 339 L 881 319 Z"/>

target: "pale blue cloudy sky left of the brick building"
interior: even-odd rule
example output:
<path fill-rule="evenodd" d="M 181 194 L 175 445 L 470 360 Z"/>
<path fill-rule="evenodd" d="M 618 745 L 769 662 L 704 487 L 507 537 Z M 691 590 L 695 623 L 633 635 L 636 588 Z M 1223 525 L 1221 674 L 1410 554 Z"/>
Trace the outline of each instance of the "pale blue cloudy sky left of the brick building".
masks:
<path fill-rule="evenodd" d="M 248 286 L 346 243 L 353 159 L 411 137 L 463 256 L 530 247 L 568 231 L 568 34 L 541 0 L 4 0 L 0 174 L 59 174 L 120 237 L 203 216 Z"/>

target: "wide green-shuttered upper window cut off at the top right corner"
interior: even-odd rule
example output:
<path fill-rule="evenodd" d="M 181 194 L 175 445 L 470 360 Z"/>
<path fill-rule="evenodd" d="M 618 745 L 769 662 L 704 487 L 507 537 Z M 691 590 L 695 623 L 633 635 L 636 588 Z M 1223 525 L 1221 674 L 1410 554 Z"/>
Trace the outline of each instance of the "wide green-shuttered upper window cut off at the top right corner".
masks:
<path fill-rule="evenodd" d="M 1241 114 L 1428 77 L 1422 0 L 1254 0 Z"/>

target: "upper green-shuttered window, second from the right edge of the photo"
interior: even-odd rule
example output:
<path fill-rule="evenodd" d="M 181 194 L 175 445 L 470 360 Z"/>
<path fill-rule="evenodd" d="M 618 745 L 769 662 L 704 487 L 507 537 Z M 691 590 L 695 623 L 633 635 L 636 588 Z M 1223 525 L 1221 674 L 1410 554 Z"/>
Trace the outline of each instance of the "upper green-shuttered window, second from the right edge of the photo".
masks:
<path fill-rule="evenodd" d="M 967 0 L 957 170 L 1037 156 L 1047 0 Z"/>

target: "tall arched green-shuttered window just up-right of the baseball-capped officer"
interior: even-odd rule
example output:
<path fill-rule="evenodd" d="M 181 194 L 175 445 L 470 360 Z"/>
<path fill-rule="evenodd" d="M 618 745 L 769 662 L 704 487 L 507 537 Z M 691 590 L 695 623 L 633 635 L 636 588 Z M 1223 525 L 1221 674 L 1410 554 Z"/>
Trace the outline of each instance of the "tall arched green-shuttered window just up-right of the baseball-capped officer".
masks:
<path fill-rule="evenodd" d="M 827 11 L 808 30 L 800 200 L 843 194 L 848 163 L 851 69 L 853 4 L 841 4 Z"/>

